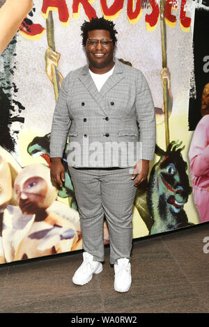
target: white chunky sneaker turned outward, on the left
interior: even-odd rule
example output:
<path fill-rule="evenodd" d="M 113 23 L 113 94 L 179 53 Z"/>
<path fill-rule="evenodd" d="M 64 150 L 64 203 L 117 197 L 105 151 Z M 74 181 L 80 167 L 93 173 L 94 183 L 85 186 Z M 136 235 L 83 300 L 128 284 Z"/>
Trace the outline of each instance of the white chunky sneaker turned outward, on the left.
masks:
<path fill-rule="evenodd" d="M 75 271 L 72 277 L 72 282 L 76 285 L 85 285 L 90 282 L 93 273 L 100 273 L 102 271 L 102 264 L 98 261 L 93 261 L 93 255 L 88 252 L 83 253 L 84 262 Z"/>

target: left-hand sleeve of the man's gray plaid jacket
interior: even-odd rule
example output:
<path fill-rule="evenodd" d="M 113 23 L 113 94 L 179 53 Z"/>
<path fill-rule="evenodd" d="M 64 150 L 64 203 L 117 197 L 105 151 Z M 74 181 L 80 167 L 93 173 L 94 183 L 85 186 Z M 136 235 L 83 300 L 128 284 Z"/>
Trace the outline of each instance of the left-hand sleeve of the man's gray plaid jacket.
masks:
<path fill-rule="evenodd" d="M 69 92 L 68 78 L 69 75 L 63 80 L 54 110 L 52 131 L 50 136 L 51 158 L 63 157 L 63 152 L 65 150 L 65 145 L 68 138 L 68 131 L 71 123 L 67 103 L 67 96 Z"/>

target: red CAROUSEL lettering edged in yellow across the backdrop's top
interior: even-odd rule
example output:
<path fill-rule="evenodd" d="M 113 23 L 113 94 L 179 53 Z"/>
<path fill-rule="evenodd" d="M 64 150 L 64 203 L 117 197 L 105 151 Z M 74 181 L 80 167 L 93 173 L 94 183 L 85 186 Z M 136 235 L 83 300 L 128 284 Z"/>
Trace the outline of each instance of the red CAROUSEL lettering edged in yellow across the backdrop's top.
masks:
<path fill-rule="evenodd" d="M 91 17 L 97 17 L 97 13 L 92 6 L 95 0 L 72 0 L 72 15 L 75 19 L 79 18 L 80 6 L 84 9 L 86 17 L 91 20 Z M 154 31 L 160 18 L 160 6 L 156 0 L 148 0 L 151 12 L 145 15 L 146 29 Z M 187 17 L 185 6 L 188 0 L 181 0 L 180 3 L 180 28 L 182 31 L 189 31 L 191 26 L 191 18 Z M 111 6 L 108 6 L 108 0 L 100 0 L 102 13 L 106 19 L 116 19 L 124 7 L 124 0 L 114 0 Z M 70 13 L 66 0 L 43 0 L 42 15 L 47 19 L 49 11 L 56 11 L 59 15 L 60 22 L 67 26 L 70 22 Z M 173 10 L 177 10 L 177 0 L 165 0 L 164 19 L 168 26 L 176 26 L 176 15 L 173 15 Z M 142 13 L 141 0 L 127 0 L 127 19 L 130 24 L 136 24 Z M 37 40 L 41 38 L 45 28 L 40 24 L 27 24 L 27 19 L 24 19 L 20 26 L 20 33 L 25 38 Z"/>

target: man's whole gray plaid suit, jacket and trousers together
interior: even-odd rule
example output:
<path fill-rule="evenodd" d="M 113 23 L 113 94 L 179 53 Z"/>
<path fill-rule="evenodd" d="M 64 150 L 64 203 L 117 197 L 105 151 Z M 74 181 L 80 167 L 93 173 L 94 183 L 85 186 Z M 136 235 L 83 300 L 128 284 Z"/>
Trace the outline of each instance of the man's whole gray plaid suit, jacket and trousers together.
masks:
<path fill-rule="evenodd" d="M 79 207 L 84 250 L 96 261 L 104 260 L 105 214 L 112 264 L 120 257 L 130 258 L 136 189 L 128 167 L 139 159 L 153 160 L 155 152 L 155 111 L 148 83 L 140 70 L 117 59 L 115 62 L 114 72 L 100 92 L 88 65 L 65 77 L 50 137 L 51 157 L 63 157 L 67 137 L 70 139 L 68 166 Z M 123 145 L 118 147 L 116 156 L 116 148 L 106 146 L 113 143 Z M 134 152 L 131 163 L 129 150 L 124 151 L 124 146 L 128 149 L 129 145 Z"/>

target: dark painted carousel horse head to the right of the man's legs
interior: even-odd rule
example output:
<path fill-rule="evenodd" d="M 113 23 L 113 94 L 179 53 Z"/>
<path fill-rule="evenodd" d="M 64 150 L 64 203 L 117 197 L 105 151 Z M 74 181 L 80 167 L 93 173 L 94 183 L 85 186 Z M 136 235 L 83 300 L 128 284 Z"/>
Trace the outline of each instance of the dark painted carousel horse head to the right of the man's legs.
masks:
<path fill-rule="evenodd" d="M 153 218 L 150 234 L 191 225 L 183 206 L 192 189 L 186 173 L 187 163 L 180 153 L 184 147 L 180 145 L 172 141 L 167 151 L 156 149 L 160 160 L 151 170 L 147 191 L 148 209 Z"/>

